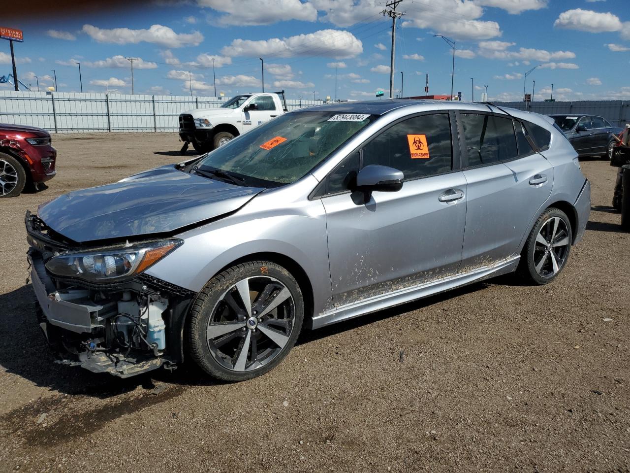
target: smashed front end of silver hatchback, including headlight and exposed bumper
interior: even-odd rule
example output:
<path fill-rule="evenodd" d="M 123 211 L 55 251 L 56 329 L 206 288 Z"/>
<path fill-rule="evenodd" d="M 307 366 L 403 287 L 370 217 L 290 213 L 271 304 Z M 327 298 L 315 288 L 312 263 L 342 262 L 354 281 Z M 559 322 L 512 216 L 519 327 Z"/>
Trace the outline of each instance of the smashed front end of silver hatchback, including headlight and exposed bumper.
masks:
<path fill-rule="evenodd" d="M 38 322 L 59 363 L 125 378 L 182 361 L 195 294 L 144 274 L 181 240 L 86 247 L 30 212 L 25 223 Z"/>

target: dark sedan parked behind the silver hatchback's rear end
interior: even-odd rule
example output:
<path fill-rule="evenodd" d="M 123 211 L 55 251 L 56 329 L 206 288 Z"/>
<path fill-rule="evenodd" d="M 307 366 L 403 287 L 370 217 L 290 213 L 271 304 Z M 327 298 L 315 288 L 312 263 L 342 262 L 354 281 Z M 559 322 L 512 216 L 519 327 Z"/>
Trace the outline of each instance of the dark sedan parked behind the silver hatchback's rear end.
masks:
<path fill-rule="evenodd" d="M 613 134 L 622 128 L 614 127 L 602 117 L 587 114 L 549 115 L 563 131 L 580 156 L 604 156 L 610 159 L 615 146 Z"/>

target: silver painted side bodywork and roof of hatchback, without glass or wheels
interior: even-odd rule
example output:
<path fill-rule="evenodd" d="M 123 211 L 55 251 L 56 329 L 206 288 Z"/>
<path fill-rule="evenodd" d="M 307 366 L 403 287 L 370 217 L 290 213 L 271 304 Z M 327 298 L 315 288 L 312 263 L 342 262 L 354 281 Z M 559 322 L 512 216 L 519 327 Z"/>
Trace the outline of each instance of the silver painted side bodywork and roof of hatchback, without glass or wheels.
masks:
<path fill-rule="evenodd" d="M 508 113 L 551 132 L 549 149 L 507 163 L 409 180 L 398 192 L 373 192 L 365 203 L 353 203 L 349 192 L 311 199 L 341 160 L 395 120 L 440 110 L 505 113 L 490 105 L 440 101 L 325 107 L 382 116 L 294 184 L 262 192 L 245 188 L 249 194 L 229 199 L 229 210 L 221 209 L 223 218 L 176 235 L 183 245 L 146 273 L 198 292 L 238 260 L 290 260 L 309 282 L 310 288 L 303 289 L 312 291 L 312 325 L 319 327 L 513 271 L 537 217 L 556 202 L 577 206 L 575 235 L 584 231 L 590 187 L 573 159 L 575 150 L 551 119 L 518 110 Z M 547 177 L 544 185 L 530 184 L 539 174 Z M 438 201 L 449 189 L 461 190 L 461 201 Z M 194 214 L 195 207 L 190 209 Z"/>

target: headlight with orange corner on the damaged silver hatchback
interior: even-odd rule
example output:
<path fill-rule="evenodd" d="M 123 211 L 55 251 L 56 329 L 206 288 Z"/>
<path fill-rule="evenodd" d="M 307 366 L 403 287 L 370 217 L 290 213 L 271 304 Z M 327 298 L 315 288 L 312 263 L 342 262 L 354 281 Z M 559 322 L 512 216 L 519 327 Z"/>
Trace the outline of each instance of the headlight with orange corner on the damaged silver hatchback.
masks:
<path fill-rule="evenodd" d="M 78 277 L 91 283 L 129 279 L 145 271 L 183 243 L 178 238 L 134 245 L 93 248 L 57 255 L 46 263 L 52 274 Z"/>

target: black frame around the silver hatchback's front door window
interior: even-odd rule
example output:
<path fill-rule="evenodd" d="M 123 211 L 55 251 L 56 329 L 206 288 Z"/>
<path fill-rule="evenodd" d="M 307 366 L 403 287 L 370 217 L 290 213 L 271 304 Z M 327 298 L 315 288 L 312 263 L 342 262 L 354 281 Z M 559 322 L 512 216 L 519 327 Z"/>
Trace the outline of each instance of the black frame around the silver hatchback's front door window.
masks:
<path fill-rule="evenodd" d="M 417 112 L 415 114 L 411 114 L 411 115 L 405 115 L 404 117 L 400 117 L 399 119 L 396 119 L 392 122 L 390 122 L 389 124 L 387 124 L 386 126 L 382 127 L 381 129 L 379 129 L 375 134 L 372 134 L 372 136 L 367 137 L 367 139 L 365 139 L 362 143 L 360 143 L 356 148 L 354 148 L 352 151 L 350 151 L 350 153 L 348 153 L 346 156 L 343 157 L 343 159 L 338 163 L 338 165 L 336 165 L 327 175 L 325 178 L 323 178 L 321 180 L 321 182 L 319 182 L 318 185 L 315 186 L 315 189 L 312 190 L 311 194 L 309 194 L 309 200 L 315 200 L 315 199 L 321 199 L 322 197 L 333 197 L 333 196 L 340 196 L 341 194 L 350 194 L 352 193 L 352 190 L 347 189 L 347 190 L 341 190 L 338 192 L 333 192 L 331 194 L 328 194 L 327 190 L 328 190 L 328 179 L 330 177 L 330 175 L 335 172 L 335 170 L 343 165 L 345 160 L 348 160 L 351 156 L 354 155 L 354 153 L 360 152 L 360 156 L 359 156 L 359 171 L 363 168 L 363 148 L 370 143 L 370 141 L 372 141 L 373 139 L 375 139 L 376 137 L 380 136 L 382 133 L 384 133 L 385 131 L 387 131 L 388 129 L 390 129 L 392 126 L 396 126 L 401 122 L 404 122 L 405 120 L 408 119 L 412 119 L 412 118 L 416 118 L 416 117 L 422 117 L 424 115 L 447 115 L 449 117 L 449 122 L 450 122 L 450 143 L 451 143 L 451 169 L 450 171 L 445 171 L 445 172 L 441 172 L 438 174 L 431 174 L 431 175 L 427 175 L 427 176 L 418 176 L 418 177 L 410 177 L 410 178 L 405 178 L 403 180 L 403 182 L 408 182 L 408 181 L 412 181 L 412 180 L 418 180 L 418 179 L 425 179 L 428 177 L 434 177 L 434 176 L 443 176 L 446 174 L 450 174 L 450 173 L 454 173 L 454 172 L 459 172 L 461 171 L 461 151 L 460 151 L 460 146 L 459 146 L 459 131 L 457 129 L 457 120 L 455 119 L 455 110 L 430 110 L 427 112 Z M 377 119 L 378 120 L 378 119 Z M 377 121 L 375 120 L 375 121 Z M 516 138 L 516 137 L 515 137 Z"/>

